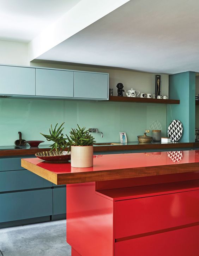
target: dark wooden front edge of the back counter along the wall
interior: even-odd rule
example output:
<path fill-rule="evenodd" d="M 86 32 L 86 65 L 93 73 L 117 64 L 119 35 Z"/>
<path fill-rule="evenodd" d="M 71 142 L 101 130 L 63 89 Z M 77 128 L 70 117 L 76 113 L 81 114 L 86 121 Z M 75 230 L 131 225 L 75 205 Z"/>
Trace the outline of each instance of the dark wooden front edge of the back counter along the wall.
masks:
<path fill-rule="evenodd" d="M 113 146 L 96 146 L 94 152 L 108 152 L 108 151 L 122 151 L 122 150 L 147 150 L 147 149 L 175 149 L 186 147 L 199 147 L 199 142 L 182 142 L 182 143 L 165 143 L 165 144 L 138 144 L 138 145 L 113 145 Z M 46 149 L 13 149 L 0 150 L 0 157 L 2 156 L 25 156 L 35 155 L 37 152 L 49 151 Z"/>

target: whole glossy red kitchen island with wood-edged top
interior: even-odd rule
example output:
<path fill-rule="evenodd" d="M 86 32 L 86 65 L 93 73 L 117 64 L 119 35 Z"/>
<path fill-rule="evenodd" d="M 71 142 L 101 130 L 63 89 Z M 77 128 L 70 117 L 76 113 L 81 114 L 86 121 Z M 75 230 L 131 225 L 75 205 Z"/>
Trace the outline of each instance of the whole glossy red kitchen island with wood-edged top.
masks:
<path fill-rule="evenodd" d="M 91 168 L 22 159 L 67 184 L 72 256 L 198 256 L 199 151 L 94 156 Z"/>

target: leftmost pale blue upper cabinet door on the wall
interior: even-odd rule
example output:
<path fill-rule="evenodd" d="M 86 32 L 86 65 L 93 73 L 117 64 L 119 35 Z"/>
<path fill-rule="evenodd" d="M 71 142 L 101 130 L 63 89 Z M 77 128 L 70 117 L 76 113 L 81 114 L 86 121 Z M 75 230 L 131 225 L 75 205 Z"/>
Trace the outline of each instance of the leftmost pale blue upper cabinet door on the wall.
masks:
<path fill-rule="evenodd" d="M 0 65 L 0 94 L 35 95 L 35 68 Z"/>

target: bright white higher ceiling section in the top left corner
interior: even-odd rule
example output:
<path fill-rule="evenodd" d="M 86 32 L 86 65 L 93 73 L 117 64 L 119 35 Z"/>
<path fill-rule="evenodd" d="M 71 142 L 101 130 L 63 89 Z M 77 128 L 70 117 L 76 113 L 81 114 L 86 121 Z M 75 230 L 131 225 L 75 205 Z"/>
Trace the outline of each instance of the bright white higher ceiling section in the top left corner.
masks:
<path fill-rule="evenodd" d="M 30 42 L 81 0 L 0 0 L 0 40 Z"/>

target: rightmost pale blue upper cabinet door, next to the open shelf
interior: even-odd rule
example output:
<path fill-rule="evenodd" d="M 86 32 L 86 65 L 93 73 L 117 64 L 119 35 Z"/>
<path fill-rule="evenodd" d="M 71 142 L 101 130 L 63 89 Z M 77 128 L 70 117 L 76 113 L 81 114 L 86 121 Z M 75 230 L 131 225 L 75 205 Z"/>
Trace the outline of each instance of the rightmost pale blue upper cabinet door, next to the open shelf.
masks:
<path fill-rule="evenodd" d="M 108 74 L 74 72 L 74 98 L 108 99 Z"/>

